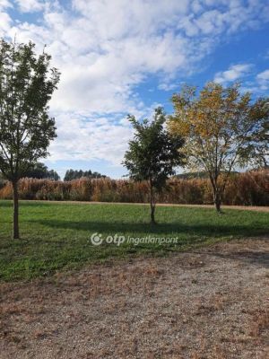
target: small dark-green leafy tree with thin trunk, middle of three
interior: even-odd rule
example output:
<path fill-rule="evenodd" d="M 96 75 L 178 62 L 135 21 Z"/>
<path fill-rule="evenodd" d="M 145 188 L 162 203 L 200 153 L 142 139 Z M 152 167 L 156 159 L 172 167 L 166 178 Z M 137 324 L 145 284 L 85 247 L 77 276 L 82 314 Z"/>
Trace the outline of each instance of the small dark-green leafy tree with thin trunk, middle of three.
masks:
<path fill-rule="evenodd" d="M 152 122 L 139 122 L 129 116 L 135 134 L 129 142 L 123 164 L 135 181 L 146 180 L 149 184 L 151 219 L 155 223 L 156 193 L 166 185 L 169 176 L 175 174 L 175 167 L 183 165 L 184 155 L 178 152 L 184 144 L 181 136 L 169 135 L 164 129 L 165 114 L 161 108 L 155 109 Z"/>

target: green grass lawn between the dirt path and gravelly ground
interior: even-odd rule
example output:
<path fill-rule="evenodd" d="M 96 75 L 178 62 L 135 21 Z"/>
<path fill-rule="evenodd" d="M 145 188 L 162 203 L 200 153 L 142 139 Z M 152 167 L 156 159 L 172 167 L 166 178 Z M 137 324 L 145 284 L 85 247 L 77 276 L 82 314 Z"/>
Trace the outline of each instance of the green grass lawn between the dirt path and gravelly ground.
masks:
<path fill-rule="evenodd" d="M 20 241 L 11 239 L 12 202 L 0 201 L 0 280 L 48 276 L 59 269 L 137 255 L 165 255 L 232 238 L 268 235 L 269 214 L 162 206 L 157 226 L 149 224 L 148 206 L 21 202 Z M 178 244 L 93 246 L 94 232 L 126 237 L 178 237 Z"/>

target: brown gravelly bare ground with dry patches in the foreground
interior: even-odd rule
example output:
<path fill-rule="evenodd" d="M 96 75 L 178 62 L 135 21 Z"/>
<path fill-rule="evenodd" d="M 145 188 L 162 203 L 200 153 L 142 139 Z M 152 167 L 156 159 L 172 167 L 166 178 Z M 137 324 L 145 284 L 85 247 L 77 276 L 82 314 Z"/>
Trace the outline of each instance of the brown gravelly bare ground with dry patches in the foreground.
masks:
<path fill-rule="evenodd" d="M 269 239 L 0 284 L 0 358 L 268 358 Z"/>

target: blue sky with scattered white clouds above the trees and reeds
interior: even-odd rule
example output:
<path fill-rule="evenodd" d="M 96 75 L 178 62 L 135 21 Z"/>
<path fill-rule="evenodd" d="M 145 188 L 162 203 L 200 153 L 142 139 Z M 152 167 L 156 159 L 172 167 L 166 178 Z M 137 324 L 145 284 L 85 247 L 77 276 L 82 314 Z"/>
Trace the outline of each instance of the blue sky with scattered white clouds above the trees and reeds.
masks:
<path fill-rule="evenodd" d="M 50 101 L 57 138 L 45 162 L 126 175 L 133 130 L 183 83 L 269 90 L 269 0 L 0 0 L 0 37 L 46 45 L 61 72 Z M 180 170 L 179 170 L 180 171 Z"/>

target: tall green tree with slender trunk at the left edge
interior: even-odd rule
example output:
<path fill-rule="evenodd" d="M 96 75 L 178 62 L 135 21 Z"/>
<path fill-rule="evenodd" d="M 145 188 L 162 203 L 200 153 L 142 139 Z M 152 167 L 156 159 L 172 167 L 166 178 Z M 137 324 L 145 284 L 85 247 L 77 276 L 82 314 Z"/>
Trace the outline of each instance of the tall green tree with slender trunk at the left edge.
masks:
<path fill-rule="evenodd" d="M 55 119 L 48 101 L 59 73 L 51 57 L 35 46 L 0 41 L 0 170 L 13 185 L 13 238 L 19 238 L 18 181 L 56 137 Z"/>

